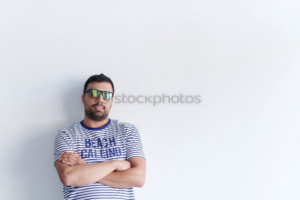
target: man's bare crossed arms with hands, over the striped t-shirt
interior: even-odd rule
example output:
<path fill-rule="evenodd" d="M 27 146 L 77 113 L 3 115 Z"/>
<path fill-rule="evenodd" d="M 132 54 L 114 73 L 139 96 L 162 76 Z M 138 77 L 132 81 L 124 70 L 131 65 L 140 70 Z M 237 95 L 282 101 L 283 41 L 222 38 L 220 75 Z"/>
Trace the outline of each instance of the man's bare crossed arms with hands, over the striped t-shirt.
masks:
<path fill-rule="evenodd" d="M 64 153 L 63 160 L 66 160 L 67 157 L 67 159 L 74 159 L 77 155 L 70 152 Z M 98 182 L 115 188 L 131 188 L 142 187 L 145 184 L 146 160 L 143 157 L 137 156 L 128 159 L 131 167 L 126 170 L 121 168 L 121 162 L 124 160 L 84 163 L 82 158 L 77 157 L 77 163 L 83 164 L 71 165 L 70 162 L 62 162 L 62 159 L 55 162 L 55 168 L 61 182 L 67 186 L 85 186 Z M 72 159 L 69 161 L 73 162 Z M 117 169 L 122 171 L 115 171 Z"/>

